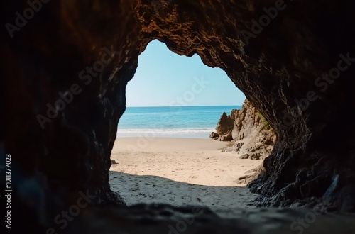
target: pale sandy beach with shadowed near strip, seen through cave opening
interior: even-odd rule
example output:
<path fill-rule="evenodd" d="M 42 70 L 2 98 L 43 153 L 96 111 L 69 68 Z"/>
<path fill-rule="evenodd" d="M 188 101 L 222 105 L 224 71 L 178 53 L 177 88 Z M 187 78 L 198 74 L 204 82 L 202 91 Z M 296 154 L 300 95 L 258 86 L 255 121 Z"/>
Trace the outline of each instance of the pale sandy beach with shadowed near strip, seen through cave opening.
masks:
<path fill-rule="evenodd" d="M 246 208 L 255 198 L 235 182 L 261 160 L 221 152 L 230 143 L 197 138 L 117 138 L 109 183 L 127 205 Z"/>

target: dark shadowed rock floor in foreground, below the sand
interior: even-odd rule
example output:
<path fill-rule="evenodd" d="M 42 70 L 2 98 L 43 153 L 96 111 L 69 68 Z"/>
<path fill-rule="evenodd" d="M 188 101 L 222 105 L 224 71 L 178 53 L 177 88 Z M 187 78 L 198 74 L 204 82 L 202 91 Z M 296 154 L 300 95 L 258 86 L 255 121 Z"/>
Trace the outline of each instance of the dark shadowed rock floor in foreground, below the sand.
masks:
<path fill-rule="evenodd" d="M 353 214 L 305 208 L 234 211 L 234 218 L 221 218 L 208 208 L 192 206 L 140 204 L 121 209 L 93 208 L 73 223 L 70 233 L 355 233 Z"/>

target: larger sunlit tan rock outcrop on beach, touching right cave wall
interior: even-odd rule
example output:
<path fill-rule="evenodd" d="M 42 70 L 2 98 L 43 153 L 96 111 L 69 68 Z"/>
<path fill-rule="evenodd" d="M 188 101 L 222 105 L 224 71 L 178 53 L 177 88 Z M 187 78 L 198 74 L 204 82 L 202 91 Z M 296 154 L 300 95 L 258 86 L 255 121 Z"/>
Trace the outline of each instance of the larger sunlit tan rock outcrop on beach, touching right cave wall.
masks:
<path fill-rule="evenodd" d="M 231 136 L 235 143 L 224 151 L 236 151 L 241 158 L 264 159 L 270 155 L 276 140 L 275 131 L 248 100 L 240 110 L 234 110 Z"/>

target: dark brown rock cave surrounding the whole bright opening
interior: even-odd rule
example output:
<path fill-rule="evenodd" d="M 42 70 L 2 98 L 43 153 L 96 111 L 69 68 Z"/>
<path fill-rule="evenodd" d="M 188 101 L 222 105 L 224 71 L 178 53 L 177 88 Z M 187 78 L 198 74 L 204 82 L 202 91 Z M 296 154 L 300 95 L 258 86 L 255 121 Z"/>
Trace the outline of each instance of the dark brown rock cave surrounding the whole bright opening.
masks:
<path fill-rule="evenodd" d="M 354 212 L 354 4 L 1 1 L 0 151 L 1 164 L 11 155 L 13 229 L 55 233 L 48 229 L 51 217 L 83 192 L 94 199 L 62 232 L 109 233 L 115 227 L 167 233 L 169 223 L 186 215 L 184 207 L 126 207 L 109 188 L 125 87 L 138 55 L 155 39 L 178 55 L 197 54 L 205 65 L 223 69 L 275 130 L 265 171 L 249 184 L 257 206 L 312 208 L 322 201 L 331 211 Z M 202 211 L 185 233 L 261 233 L 267 226 Z M 299 217 L 307 210 L 292 212 Z M 112 216 L 122 222 L 114 224 Z M 329 216 L 317 219 L 323 222 L 310 229 L 333 227 Z M 354 216 L 335 220 L 349 228 L 341 233 L 351 233 L 351 225 L 354 230 Z M 283 227 L 273 233 L 290 232 L 290 223 Z"/>

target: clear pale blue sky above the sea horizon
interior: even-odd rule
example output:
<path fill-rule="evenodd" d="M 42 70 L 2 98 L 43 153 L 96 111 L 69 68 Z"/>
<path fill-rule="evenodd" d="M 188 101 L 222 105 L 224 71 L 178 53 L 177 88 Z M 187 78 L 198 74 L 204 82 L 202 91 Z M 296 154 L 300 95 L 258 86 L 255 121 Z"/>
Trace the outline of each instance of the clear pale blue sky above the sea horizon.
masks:
<path fill-rule="evenodd" d="M 234 106 L 244 104 L 245 96 L 222 69 L 153 40 L 138 58 L 126 99 L 126 106 Z"/>

